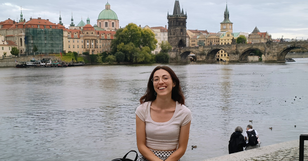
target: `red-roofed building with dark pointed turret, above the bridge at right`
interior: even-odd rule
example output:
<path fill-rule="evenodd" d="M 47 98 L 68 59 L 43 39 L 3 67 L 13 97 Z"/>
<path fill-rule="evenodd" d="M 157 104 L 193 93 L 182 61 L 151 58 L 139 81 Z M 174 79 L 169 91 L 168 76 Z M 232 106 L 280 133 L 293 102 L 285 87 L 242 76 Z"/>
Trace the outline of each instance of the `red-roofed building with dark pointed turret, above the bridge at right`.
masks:
<path fill-rule="evenodd" d="M 267 33 L 261 33 L 257 26 L 254 28 L 253 32 L 248 36 L 248 43 L 266 43 L 268 40 L 272 40 L 272 36 Z"/>

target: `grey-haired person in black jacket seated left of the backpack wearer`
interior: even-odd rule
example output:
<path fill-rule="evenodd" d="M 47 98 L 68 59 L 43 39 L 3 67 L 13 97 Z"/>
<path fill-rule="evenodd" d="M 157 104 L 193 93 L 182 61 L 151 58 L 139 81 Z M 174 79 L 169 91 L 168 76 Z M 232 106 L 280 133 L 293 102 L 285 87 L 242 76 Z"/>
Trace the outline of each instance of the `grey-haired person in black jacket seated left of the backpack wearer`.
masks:
<path fill-rule="evenodd" d="M 246 141 L 242 132 L 243 128 L 241 126 L 235 128 L 235 132 L 233 132 L 229 141 L 229 154 L 244 151 L 243 148 L 246 147 Z"/>

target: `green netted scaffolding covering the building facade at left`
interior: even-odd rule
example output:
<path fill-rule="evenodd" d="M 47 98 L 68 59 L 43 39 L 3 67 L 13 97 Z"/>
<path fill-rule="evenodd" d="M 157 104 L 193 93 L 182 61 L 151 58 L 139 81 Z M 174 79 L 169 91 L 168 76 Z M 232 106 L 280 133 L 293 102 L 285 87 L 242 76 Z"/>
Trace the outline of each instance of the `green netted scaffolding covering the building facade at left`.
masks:
<path fill-rule="evenodd" d="M 35 29 L 25 30 L 25 46 L 27 53 L 33 53 L 34 45 L 37 52 L 42 54 L 60 53 L 63 51 L 63 29 Z"/>

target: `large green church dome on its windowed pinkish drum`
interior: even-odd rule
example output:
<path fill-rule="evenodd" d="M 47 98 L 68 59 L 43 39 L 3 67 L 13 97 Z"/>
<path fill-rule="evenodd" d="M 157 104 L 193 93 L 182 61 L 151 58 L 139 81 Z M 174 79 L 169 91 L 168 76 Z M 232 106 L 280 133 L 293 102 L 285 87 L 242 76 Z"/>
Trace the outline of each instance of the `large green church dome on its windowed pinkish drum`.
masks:
<path fill-rule="evenodd" d="M 110 4 L 108 2 L 105 5 L 105 10 L 99 13 L 97 26 L 106 31 L 115 31 L 119 29 L 118 16 L 110 9 Z"/>

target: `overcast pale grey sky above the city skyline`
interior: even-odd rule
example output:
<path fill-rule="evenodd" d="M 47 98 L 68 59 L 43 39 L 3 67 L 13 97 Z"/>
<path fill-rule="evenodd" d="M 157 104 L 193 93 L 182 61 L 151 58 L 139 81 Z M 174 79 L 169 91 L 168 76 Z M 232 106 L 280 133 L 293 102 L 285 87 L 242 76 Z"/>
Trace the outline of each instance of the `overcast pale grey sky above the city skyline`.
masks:
<path fill-rule="evenodd" d="M 150 27 L 167 25 L 167 12 L 173 13 L 174 0 L 109 0 L 111 10 L 117 14 L 120 26 L 130 22 Z M 96 24 L 99 13 L 105 9 L 105 1 L 84 0 L 14 0 L 0 2 L 0 21 L 7 18 L 20 19 L 20 6 L 26 21 L 42 17 L 53 23 L 62 22 L 66 27 L 89 16 L 91 25 Z M 180 0 L 180 6 L 187 11 L 187 29 L 207 29 L 220 31 L 224 19 L 226 0 Z M 308 38 L 308 1 L 307 0 L 228 0 L 230 21 L 233 32 L 251 33 L 255 26 L 260 32 L 268 32 L 273 38 Z M 18 18 L 17 18 L 18 17 Z"/>

